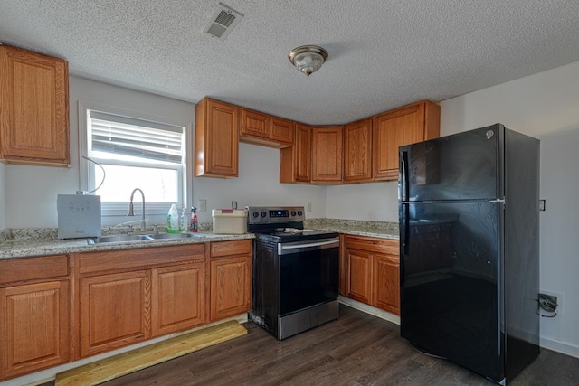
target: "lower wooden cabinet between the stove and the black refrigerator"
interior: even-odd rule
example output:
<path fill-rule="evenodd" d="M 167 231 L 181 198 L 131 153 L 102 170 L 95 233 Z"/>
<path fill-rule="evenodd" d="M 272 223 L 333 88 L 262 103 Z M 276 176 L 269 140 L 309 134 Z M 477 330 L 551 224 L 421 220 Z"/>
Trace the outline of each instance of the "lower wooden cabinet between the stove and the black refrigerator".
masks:
<path fill-rule="evenodd" d="M 346 235 L 342 245 L 340 293 L 400 315 L 398 240 Z"/>

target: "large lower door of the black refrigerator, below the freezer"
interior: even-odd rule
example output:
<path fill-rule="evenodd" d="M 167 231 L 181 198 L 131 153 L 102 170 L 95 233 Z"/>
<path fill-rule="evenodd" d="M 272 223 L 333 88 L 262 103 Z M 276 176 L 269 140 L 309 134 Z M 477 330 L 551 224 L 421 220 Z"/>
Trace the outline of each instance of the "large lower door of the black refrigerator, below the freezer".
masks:
<path fill-rule="evenodd" d="M 502 205 L 410 202 L 400 207 L 402 336 L 419 350 L 495 381 L 504 373 Z"/>

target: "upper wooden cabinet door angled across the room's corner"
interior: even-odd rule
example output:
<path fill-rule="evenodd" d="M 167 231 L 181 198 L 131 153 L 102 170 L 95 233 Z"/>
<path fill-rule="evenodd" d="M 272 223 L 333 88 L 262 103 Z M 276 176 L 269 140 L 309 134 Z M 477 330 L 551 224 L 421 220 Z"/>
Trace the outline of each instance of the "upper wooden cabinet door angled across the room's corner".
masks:
<path fill-rule="evenodd" d="M 312 127 L 312 182 L 342 181 L 344 127 Z"/>

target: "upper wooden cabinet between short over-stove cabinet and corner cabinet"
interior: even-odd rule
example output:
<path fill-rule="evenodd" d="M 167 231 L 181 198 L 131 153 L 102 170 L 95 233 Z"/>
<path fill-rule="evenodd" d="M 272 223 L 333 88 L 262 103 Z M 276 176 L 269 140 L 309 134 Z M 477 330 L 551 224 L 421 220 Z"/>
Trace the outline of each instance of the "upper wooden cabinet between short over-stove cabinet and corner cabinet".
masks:
<path fill-rule="evenodd" d="M 280 183 L 309 184 L 311 127 L 296 123 L 293 146 L 280 149 Z"/>

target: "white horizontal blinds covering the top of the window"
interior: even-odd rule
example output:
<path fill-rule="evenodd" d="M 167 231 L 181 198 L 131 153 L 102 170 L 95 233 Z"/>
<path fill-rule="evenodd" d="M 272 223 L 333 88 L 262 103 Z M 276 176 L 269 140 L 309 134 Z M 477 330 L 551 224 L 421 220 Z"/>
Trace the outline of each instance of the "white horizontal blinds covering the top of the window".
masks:
<path fill-rule="evenodd" d="M 183 163 L 183 127 L 90 111 L 92 152 Z"/>

